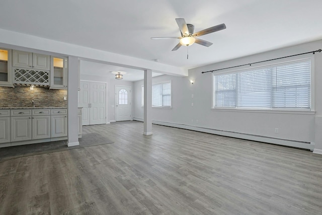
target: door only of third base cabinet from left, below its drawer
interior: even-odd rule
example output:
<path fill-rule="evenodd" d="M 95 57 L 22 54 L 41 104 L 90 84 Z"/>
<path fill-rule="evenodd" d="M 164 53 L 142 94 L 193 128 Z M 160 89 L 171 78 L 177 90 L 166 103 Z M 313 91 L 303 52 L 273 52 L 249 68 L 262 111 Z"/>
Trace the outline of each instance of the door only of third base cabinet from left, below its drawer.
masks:
<path fill-rule="evenodd" d="M 32 117 L 32 139 L 50 138 L 50 116 Z"/>

